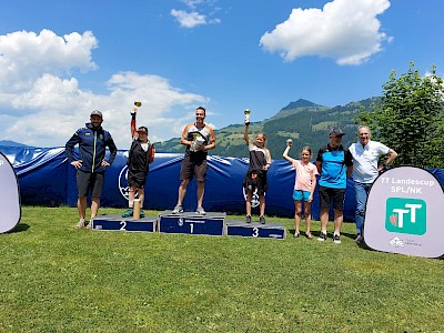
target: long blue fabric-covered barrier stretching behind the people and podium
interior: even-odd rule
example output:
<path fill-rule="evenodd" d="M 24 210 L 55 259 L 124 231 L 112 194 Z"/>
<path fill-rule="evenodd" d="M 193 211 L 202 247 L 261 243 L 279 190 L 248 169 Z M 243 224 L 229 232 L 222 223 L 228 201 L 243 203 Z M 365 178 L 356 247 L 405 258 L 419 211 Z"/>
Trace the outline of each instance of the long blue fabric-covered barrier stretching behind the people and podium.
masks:
<path fill-rule="evenodd" d="M 0 151 L 13 165 L 20 184 L 21 203 L 58 206 L 77 205 L 75 169 L 68 163 L 64 148 L 0 147 Z M 75 153 L 78 151 L 75 150 Z M 246 152 L 245 152 L 246 153 Z M 102 206 L 127 208 L 128 184 L 125 180 L 128 151 L 119 150 L 114 163 L 107 169 Z M 171 210 L 178 200 L 179 171 L 182 153 L 155 153 L 150 164 L 145 188 L 145 209 Z M 203 205 L 208 212 L 244 214 L 245 199 L 242 181 L 248 170 L 248 159 L 209 157 Z M 444 183 L 444 171 L 430 170 Z M 292 199 L 294 170 L 287 161 L 275 160 L 268 172 L 269 190 L 265 194 L 268 215 L 291 218 L 294 215 Z M 191 181 L 183 206 L 194 211 L 196 183 Z M 255 203 L 253 202 L 253 206 Z M 344 220 L 353 221 L 355 210 L 354 186 L 347 180 Z M 259 208 L 253 208 L 259 213 Z M 319 220 L 319 195 L 315 191 L 312 216 Z M 333 215 L 331 214 L 331 218 Z"/>

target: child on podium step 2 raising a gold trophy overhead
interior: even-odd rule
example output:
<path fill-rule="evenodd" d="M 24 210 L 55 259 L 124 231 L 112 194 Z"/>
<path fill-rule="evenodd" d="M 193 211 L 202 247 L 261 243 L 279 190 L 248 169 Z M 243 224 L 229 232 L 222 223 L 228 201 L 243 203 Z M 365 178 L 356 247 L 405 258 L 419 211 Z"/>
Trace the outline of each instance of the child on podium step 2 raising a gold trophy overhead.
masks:
<path fill-rule="evenodd" d="M 134 214 L 135 191 L 140 201 L 140 218 L 144 218 L 143 201 L 144 186 L 147 182 L 150 163 L 154 160 L 155 149 L 148 140 L 148 129 L 140 127 L 135 129 L 135 115 L 141 102 L 134 102 L 134 108 L 131 110 L 131 135 L 132 144 L 128 158 L 128 185 L 130 192 L 128 195 L 128 210 L 122 214 L 122 218 L 131 218 Z M 139 216 L 138 216 L 139 218 Z"/>

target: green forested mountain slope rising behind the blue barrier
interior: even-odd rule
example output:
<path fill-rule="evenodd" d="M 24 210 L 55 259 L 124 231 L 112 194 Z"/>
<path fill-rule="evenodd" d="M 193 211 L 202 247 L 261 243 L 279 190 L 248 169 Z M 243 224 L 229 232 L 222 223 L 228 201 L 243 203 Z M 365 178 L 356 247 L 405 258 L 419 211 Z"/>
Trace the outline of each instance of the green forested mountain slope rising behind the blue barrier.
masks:
<path fill-rule="evenodd" d="M 250 138 L 253 140 L 254 133 L 264 132 L 266 147 L 274 160 L 282 159 L 286 147 L 285 141 L 289 138 L 293 140 L 291 157 L 299 158 L 302 147 L 310 145 L 313 153 L 312 159 L 315 159 L 317 150 L 329 143 L 329 131 L 334 125 L 340 127 L 346 133 L 343 139 L 345 147 L 356 141 L 355 115 L 360 113 L 361 107 L 369 108 L 379 100 L 379 98 L 371 98 L 331 108 L 300 99 L 289 103 L 270 119 L 251 123 Z M 243 129 L 242 123 L 215 130 L 216 148 L 211 151 L 211 154 L 233 158 L 248 157 Z M 183 152 L 184 147 L 179 142 L 179 138 L 157 142 L 155 149 L 160 152 Z"/>

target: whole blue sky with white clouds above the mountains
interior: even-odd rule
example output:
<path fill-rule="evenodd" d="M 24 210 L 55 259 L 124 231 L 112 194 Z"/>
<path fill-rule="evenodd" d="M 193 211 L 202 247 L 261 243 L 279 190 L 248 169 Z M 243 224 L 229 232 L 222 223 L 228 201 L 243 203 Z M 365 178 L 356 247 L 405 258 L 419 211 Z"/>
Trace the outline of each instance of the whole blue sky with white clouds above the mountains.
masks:
<path fill-rule="evenodd" d="M 442 0 L 0 0 L 0 140 L 64 145 L 88 120 L 130 147 L 129 111 L 152 141 L 206 108 L 215 129 L 300 98 L 381 95 L 391 70 L 444 73 Z"/>

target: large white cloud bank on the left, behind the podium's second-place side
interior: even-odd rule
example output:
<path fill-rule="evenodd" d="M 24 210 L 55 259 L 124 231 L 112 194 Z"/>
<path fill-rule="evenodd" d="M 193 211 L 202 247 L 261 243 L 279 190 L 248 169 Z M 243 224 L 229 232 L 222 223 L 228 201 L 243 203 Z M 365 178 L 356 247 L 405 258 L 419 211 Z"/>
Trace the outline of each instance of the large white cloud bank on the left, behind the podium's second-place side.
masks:
<path fill-rule="evenodd" d="M 113 74 L 107 82 L 107 94 L 83 90 L 70 73 L 97 68 L 91 57 L 95 47 L 91 32 L 63 38 L 49 30 L 39 36 L 23 31 L 0 36 L 0 140 L 64 145 L 89 121 L 90 112 L 99 109 L 103 128 L 118 148 L 129 149 L 130 110 L 135 100 L 142 101 L 138 124 L 150 129 L 152 141 L 179 137 L 183 125 L 193 120 L 188 111 L 208 102 L 202 95 L 172 87 L 162 77 L 135 72 Z"/>

